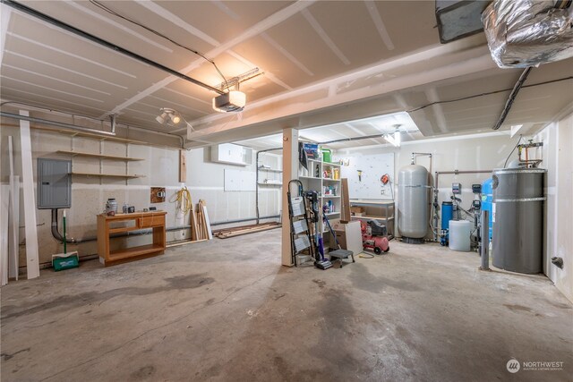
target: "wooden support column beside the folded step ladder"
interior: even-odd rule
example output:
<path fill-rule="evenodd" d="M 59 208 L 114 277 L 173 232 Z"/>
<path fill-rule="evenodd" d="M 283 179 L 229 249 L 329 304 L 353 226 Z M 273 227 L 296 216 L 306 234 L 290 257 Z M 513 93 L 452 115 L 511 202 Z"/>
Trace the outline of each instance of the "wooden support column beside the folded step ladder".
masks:
<path fill-rule="evenodd" d="M 288 219 L 288 182 L 298 179 L 298 130 L 283 130 L 283 195 L 282 195 L 282 265 L 292 267 L 290 248 L 290 220 Z"/>

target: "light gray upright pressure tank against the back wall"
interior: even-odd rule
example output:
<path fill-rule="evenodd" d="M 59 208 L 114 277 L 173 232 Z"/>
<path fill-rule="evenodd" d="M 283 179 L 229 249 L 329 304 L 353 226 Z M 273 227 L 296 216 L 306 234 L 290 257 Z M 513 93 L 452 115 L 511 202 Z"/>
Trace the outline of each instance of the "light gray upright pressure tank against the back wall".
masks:
<path fill-rule="evenodd" d="M 428 170 L 409 165 L 398 173 L 398 231 L 403 242 L 423 244 L 428 231 Z"/>

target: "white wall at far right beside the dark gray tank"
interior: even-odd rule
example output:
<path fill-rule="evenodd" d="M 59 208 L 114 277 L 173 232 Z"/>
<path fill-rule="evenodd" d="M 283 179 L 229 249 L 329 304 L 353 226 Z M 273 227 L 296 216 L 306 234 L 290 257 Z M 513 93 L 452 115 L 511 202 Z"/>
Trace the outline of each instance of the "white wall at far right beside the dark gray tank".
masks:
<path fill-rule="evenodd" d="M 543 272 L 573 301 L 573 114 L 547 126 L 535 140 L 543 141 L 548 170 Z M 563 269 L 552 265 L 552 257 L 563 258 Z"/>

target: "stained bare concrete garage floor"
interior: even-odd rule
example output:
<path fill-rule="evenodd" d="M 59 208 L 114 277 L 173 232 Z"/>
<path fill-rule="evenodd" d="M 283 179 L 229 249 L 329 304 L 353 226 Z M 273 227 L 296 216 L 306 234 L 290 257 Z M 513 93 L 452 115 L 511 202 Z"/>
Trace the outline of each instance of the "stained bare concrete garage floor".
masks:
<path fill-rule="evenodd" d="M 573 306 L 544 276 L 390 242 L 287 268 L 280 232 L 2 288 L 2 380 L 571 380 Z M 509 359 L 562 361 L 520 370 Z"/>

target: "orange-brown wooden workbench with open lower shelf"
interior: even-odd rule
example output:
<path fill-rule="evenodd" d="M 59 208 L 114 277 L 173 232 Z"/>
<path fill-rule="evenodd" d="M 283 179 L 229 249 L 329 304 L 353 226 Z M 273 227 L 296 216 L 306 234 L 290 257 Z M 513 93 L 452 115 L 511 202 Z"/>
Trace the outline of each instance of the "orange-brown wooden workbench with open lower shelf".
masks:
<path fill-rule="evenodd" d="M 136 212 L 133 214 L 98 215 L 98 256 L 106 267 L 162 254 L 166 248 L 166 211 Z M 127 233 L 145 228 L 153 229 L 151 244 L 121 250 L 110 250 L 109 239 L 114 233 Z"/>

